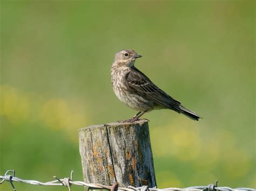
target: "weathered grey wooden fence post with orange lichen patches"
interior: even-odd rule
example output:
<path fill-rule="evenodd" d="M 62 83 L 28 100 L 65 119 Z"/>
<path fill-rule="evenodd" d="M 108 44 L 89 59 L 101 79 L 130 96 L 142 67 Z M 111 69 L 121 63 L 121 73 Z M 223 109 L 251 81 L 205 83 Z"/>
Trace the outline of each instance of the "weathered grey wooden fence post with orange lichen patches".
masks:
<path fill-rule="evenodd" d="M 84 181 L 119 186 L 157 186 L 146 120 L 79 129 Z"/>

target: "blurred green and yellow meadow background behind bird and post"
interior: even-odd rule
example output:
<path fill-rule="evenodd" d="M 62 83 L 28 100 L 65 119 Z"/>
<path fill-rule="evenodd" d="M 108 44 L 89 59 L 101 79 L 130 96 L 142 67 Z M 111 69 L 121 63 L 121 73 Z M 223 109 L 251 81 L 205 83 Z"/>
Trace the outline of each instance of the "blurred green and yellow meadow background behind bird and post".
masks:
<path fill-rule="evenodd" d="M 83 180 L 77 130 L 136 114 L 110 80 L 114 53 L 134 49 L 137 68 L 204 118 L 144 116 L 158 187 L 255 188 L 254 11 L 254 1 L 2 0 L 0 175 L 51 181 L 74 169 Z"/>

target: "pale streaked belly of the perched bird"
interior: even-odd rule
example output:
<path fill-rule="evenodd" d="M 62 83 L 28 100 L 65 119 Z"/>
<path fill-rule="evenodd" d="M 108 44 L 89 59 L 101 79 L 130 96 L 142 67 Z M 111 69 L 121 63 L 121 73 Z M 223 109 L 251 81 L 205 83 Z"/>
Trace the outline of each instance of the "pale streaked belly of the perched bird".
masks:
<path fill-rule="evenodd" d="M 153 108 L 153 102 L 146 100 L 142 96 L 134 94 L 131 90 L 125 87 L 123 84 L 116 84 L 113 86 L 114 93 L 120 101 L 125 103 L 130 108 L 137 111 L 151 110 Z"/>

